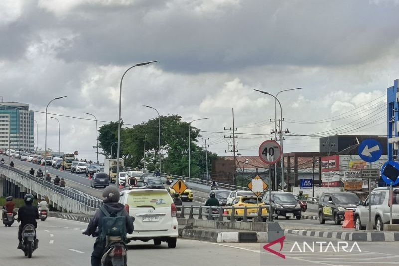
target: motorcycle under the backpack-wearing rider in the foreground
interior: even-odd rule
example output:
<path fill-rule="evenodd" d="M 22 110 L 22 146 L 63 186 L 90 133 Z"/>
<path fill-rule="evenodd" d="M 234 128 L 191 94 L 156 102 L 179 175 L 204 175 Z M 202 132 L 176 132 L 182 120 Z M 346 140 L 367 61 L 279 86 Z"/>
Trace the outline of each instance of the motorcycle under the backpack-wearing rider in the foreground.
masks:
<path fill-rule="evenodd" d="M 83 232 L 84 235 L 86 232 Z M 98 232 L 92 234 L 98 237 Z M 128 255 L 125 243 L 121 237 L 107 237 L 104 253 L 101 257 L 101 266 L 127 266 Z"/>

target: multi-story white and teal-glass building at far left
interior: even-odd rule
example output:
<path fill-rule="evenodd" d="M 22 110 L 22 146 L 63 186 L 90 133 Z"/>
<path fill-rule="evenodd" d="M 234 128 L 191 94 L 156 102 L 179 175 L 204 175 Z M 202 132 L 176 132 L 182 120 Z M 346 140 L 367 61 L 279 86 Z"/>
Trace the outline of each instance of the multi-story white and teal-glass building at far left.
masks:
<path fill-rule="evenodd" d="M 0 102 L 0 149 L 34 150 L 33 122 L 29 104 Z"/>

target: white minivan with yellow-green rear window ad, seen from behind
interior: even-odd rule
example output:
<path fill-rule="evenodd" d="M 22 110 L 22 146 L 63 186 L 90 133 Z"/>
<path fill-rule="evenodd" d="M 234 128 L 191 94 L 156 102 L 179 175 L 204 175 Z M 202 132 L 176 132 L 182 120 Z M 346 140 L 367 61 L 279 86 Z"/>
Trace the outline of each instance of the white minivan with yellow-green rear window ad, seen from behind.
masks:
<path fill-rule="evenodd" d="M 153 240 L 155 245 L 166 241 L 176 247 L 178 220 L 176 206 L 165 189 L 122 190 L 120 203 L 128 205 L 129 215 L 135 218 L 134 231 L 129 240 Z"/>

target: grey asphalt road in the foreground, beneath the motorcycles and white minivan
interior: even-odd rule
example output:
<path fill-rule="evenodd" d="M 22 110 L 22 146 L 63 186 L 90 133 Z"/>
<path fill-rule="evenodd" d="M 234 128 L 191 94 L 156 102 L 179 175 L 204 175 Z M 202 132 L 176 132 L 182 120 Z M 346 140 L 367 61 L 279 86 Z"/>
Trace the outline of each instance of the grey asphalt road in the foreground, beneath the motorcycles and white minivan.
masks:
<path fill-rule="evenodd" d="M 39 248 L 34 251 L 31 259 L 25 257 L 21 250 L 16 249 L 18 224 L 14 223 L 12 227 L 0 226 L 1 241 L 4 244 L 0 249 L 0 265 L 90 265 L 94 238 L 81 234 L 86 226 L 86 223 L 53 217 L 49 217 L 44 222 L 39 221 L 37 229 Z M 322 241 L 325 243 L 314 243 Z M 303 242 L 310 247 L 314 243 L 314 252 L 311 252 L 309 248 L 304 252 Z M 397 265 L 399 260 L 397 252 L 399 243 L 396 242 L 357 242 L 361 252 L 356 246 L 349 252 L 353 242 L 348 242 L 348 252 L 342 251 L 342 248 L 338 252 L 338 241 L 334 239 L 287 234 L 281 250 L 281 254 L 286 256 L 285 259 L 265 251 L 263 249 L 265 244 L 210 243 L 178 239 L 177 247 L 169 249 L 164 242 L 155 247 L 151 241 L 133 241 L 128 246 L 128 265 L 203 266 L 204 263 L 211 262 L 212 265 L 220 266 L 381 266 Z M 331 245 L 334 246 L 335 251 Z M 343 245 L 340 244 L 341 247 Z M 277 243 L 270 248 L 279 251 L 280 245 Z"/>

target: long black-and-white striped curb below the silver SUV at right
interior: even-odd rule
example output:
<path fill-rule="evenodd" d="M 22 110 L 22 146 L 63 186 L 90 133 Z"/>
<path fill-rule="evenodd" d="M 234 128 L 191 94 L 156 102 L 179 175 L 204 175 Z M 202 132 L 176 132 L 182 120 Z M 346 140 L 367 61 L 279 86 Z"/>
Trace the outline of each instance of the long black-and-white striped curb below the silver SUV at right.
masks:
<path fill-rule="evenodd" d="M 332 232 L 285 229 L 284 234 L 336 238 L 349 241 L 399 241 L 399 232 Z"/>

